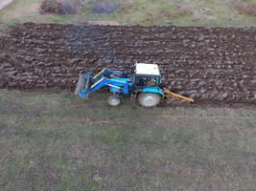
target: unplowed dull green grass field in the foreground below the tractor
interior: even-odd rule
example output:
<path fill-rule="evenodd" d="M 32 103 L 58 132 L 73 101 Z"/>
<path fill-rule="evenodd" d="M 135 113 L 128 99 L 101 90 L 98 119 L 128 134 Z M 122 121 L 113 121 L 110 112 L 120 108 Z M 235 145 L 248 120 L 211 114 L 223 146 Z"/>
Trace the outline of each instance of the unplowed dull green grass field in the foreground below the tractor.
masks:
<path fill-rule="evenodd" d="M 256 110 L 0 91 L 0 190 L 254 190 Z"/>

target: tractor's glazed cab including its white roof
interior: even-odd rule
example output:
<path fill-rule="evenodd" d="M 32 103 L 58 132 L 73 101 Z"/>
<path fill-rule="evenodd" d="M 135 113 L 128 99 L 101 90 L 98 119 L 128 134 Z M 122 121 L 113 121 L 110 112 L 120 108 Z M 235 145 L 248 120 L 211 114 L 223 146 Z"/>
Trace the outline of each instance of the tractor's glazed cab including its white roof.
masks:
<path fill-rule="evenodd" d="M 133 88 L 159 88 L 161 74 L 157 64 L 136 63 L 133 75 Z"/>

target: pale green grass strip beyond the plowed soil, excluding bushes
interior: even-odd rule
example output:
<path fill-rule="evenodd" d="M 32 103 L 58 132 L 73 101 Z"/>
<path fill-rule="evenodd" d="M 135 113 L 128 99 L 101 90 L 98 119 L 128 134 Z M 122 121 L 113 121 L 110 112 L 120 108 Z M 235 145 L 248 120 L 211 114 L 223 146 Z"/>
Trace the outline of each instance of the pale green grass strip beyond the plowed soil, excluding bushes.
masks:
<path fill-rule="evenodd" d="M 234 2 L 229 0 L 112 0 L 118 9 L 112 13 L 93 13 L 91 2 L 75 15 L 39 14 L 40 0 L 15 1 L 10 7 L 0 11 L 0 22 L 14 24 L 19 22 L 36 23 L 84 23 L 121 25 L 178 25 L 178 26 L 221 26 L 248 27 L 256 26 L 254 16 L 239 13 L 232 9 Z M 245 1 L 245 0 L 244 0 Z M 248 4 L 251 1 L 245 1 Z M 182 12 L 178 7 L 186 7 Z M 211 11 L 201 13 L 199 9 Z"/>

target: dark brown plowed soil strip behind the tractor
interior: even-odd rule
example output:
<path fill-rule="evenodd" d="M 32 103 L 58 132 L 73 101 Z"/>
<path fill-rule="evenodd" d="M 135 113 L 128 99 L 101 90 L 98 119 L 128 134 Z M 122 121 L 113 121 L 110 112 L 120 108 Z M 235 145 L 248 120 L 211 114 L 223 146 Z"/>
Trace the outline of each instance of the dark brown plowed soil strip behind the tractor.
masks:
<path fill-rule="evenodd" d="M 198 102 L 256 104 L 256 29 L 20 24 L 0 37 L 0 88 L 73 90 L 78 74 L 157 63 Z"/>

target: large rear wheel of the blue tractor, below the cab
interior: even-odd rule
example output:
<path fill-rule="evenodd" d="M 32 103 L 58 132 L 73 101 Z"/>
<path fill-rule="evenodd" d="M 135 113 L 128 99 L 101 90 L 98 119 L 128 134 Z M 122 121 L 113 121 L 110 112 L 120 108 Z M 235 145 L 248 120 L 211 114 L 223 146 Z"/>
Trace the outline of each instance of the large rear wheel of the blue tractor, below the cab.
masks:
<path fill-rule="evenodd" d="M 152 108 L 159 104 L 161 96 L 153 93 L 141 93 L 138 102 L 142 107 Z"/>

